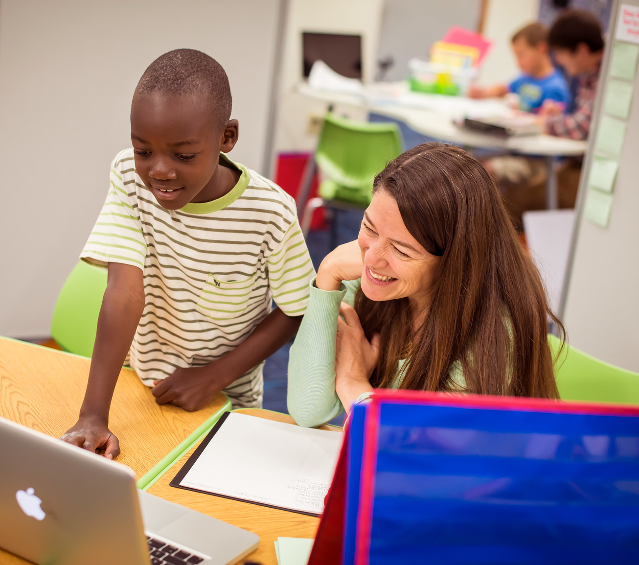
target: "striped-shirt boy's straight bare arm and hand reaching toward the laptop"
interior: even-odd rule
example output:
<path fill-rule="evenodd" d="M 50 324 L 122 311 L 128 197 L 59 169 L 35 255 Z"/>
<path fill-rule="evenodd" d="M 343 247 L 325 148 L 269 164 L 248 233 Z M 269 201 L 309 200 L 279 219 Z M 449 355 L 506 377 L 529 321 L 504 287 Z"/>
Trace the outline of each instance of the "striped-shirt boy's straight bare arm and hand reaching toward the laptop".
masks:
<path fill-rule="evenodd" d="M 118 438 L 109 431 L 109 407 L 120 369 L 144 310 L 142 270 L 109 263 L 98 327 L 80 417 L 62 439 L 89 451 L 118 456 Z"/>

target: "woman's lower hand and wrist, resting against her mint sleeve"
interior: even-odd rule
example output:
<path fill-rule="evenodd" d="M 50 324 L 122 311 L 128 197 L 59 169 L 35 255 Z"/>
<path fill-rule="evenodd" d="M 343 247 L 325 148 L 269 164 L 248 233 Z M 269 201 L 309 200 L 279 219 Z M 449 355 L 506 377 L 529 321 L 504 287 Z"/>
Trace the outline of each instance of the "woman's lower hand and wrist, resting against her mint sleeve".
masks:
<path fill-rule="evenodd" d="M 360 394 L 373 391 L 369 380 L 377 365 L 380 336 L 375 334 L 369 342 L 355 309 L 345 302 L 342 302 L 339 313 L 346 321 L 337 319 L 335 392 L 349 412 Z"/>

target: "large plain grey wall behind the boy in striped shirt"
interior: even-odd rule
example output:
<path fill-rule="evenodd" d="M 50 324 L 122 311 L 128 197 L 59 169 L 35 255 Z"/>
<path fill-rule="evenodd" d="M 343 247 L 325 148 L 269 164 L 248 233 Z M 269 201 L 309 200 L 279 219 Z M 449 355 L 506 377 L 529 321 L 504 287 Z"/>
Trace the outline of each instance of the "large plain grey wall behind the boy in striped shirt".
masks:
<path fill-rule="evenodd" d="M 2 1 L 0 335 L 49 334 L 158 55 L 192 47 L 222 63 L 240 121 L 232 157 L 261 167 L 279 1 Z"/>

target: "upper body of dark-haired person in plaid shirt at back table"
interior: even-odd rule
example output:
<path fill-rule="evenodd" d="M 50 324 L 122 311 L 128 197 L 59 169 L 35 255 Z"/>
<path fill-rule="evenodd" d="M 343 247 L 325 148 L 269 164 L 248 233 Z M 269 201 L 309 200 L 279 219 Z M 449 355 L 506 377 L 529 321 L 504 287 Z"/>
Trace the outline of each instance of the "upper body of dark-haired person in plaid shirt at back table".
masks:
<path fill-rule="evenodd" d="M 603 35 L 597 18 L 583 10 L 569 10 L 560 15 L 548 34 L 555 60 L 567 74 L 579 77 L 576 107 L 571 114 L 547 102 L 539 114 L 546 132 L 559 137 L 586 139 L 597 95 L 599 69 L 603 57 Z"/>

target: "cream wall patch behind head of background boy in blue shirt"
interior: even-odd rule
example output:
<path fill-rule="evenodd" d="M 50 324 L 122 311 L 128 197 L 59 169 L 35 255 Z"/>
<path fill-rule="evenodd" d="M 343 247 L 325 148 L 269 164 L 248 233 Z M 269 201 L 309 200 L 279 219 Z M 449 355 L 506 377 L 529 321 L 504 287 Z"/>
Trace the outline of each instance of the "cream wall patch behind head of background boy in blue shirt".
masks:
<path fill-rule="evenodd" d="M 479 84 L 510 82 L 521 73 L 512 56 L 511 37 L 538 15 L 539 0 L 486 0 L 484 36 L 493 47 L 482 64 Z"/>

